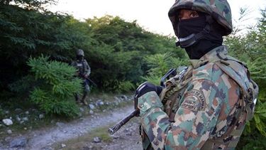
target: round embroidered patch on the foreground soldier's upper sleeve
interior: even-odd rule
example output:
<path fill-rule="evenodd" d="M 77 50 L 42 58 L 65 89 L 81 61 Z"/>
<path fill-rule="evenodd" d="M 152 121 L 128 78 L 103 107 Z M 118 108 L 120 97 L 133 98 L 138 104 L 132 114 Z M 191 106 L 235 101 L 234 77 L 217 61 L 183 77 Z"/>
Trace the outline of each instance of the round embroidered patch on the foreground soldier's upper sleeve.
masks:
<path fill-rule="evenodd" d="M 198 90 L 191 90 L 185 95 L 184 102 L 180 107 L 190 109 L 194 112 L 205 109 L 205 97 Z"/>

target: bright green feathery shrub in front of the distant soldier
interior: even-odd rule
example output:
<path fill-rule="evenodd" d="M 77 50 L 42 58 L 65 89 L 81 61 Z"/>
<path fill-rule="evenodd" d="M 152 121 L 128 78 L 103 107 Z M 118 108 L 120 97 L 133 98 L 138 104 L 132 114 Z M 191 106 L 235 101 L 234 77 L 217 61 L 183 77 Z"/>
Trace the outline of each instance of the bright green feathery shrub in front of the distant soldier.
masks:
<path fill-rule="evenodd" d="M 74 93 L 82 90 L 81 80 L 73 77 L 75 68 L 67 63 L 49 61 L 48 57 L 29 58 L 28 65 L 35 80 L 43 81 L 31 91 L 30 99 L 48 114 L 74 117 L 78 107 L 74 102 Z"/>

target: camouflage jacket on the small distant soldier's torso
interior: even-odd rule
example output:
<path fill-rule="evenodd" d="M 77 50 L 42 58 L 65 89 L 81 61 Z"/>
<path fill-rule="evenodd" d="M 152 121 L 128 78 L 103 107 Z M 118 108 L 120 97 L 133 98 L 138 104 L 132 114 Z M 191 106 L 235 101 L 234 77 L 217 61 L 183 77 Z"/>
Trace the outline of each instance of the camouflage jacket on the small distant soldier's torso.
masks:
<path fill-rule="evenodd" d="M 89 64 L 87 63 L 87 60 L 76 60 L 72 62 L 71 64 L 74 68 L 77 68 L 79 71 L 79 77 L 84 77 L 84 75 L 87 75 L 89 77 L 89 74 L 91 74 L 91 68 L 89 67 Z"/>

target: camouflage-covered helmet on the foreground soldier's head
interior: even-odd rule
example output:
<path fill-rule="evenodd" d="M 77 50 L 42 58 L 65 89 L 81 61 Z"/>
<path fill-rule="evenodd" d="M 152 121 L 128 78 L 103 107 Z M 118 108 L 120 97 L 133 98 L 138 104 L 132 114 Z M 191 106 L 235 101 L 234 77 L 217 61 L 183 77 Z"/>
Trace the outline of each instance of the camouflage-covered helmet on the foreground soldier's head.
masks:
<path fill-rule="evenodd" d="M 225 28 L 223 36 L 230 34 L 233 30 L 231 9 L 226 0 L 176 0 L 168 12 L 175 35 L 178 35 L 176 26 L 178 23 L 177 11 L 179 9 L 190 9 L 209 14 Z"/>

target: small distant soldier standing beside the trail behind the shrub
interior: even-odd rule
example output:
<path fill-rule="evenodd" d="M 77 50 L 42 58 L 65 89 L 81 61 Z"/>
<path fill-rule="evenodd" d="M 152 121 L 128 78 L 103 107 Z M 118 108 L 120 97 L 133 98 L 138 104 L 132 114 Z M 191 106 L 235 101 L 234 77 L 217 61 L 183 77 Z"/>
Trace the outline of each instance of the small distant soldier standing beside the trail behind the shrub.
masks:
<path fill-rule="evenodd" d="M 84 93 L 83 93 L 81 102 L 84 105 L 87 105 L 86 97 L 87 97 L 87 94 L 89 92 L 88 77 L 89 77 L 89 74 L 91 73 L 91 68 L 89 67 L 89 64 L 87 63 L 87 60 L 84 59 L 84 51 L 82 49 L 77 50 L 76 57 L 77 57 L 77 60 L 72 62 L 72 66 L 74 66 L 74 68 L 77 68 L 77 70 L 78 70 L 77 76 L 79 76 L 83 80 L 82 84 L 84 87 Z M 75 94 L 75 99 L 77 102 L 80 102 L 78 94 Z"/>

